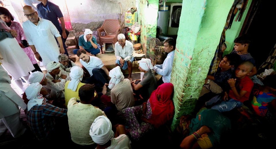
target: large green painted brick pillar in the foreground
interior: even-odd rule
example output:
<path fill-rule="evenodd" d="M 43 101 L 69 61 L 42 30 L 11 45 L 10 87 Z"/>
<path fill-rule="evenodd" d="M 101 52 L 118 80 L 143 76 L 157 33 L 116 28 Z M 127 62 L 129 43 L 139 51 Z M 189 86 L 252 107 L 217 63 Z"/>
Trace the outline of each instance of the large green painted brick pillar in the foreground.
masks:
<path fill-rule="evenodd" d="M 183 0 L 171 75 L 175 89 L 172 130 L 195 107 L 233 1 Z"/>

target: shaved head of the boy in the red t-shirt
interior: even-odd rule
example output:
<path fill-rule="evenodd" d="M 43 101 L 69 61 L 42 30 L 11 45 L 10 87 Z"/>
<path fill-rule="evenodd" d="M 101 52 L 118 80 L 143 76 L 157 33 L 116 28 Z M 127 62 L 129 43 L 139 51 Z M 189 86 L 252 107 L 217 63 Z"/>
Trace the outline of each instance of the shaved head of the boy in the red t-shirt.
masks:
<path fill-rule="evenodd" d="M 254 65 L 252 64 L 252 62 L 242 62 L 241 64 L 239 64 L 239 66 L 237 66 L 235 70 L 236 77 L 239 79 L 244 79 L 244 77 L 251 74 L 251 70 L 253 67 Z"/>

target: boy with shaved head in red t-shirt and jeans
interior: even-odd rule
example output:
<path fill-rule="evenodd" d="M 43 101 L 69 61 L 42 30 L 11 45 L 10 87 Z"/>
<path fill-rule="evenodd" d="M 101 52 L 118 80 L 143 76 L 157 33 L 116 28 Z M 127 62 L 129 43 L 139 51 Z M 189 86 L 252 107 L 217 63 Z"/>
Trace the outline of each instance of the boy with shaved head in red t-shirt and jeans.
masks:
<path fill-rule="evenodd" d="M 230 111 L 235 107 L 241 107 L 244 101 L 249 99 L 254 83 L 248 77 L 251 74 L 254 65 L 245 61 L 239 64 L 235 70 L 236 79 L 229 79 L 227 82 L 231 89 L 229 93 L 225 92 L 224 96 L 215 96 L 205 103 L 205 105 L 212 105 L 221 99 L 223 101 L 214 105 L 211 109 L 216 109 L 220 112 Z"/>

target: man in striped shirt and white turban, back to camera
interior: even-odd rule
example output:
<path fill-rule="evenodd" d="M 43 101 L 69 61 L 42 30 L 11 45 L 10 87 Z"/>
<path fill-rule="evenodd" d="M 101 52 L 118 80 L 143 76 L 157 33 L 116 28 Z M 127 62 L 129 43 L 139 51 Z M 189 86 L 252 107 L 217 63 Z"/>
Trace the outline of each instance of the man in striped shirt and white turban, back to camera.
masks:
<path fill-rule="evenodd" d="M 116 105 L 118 111 L 132 107 L 134 105 L 134 97 L 131 84 L 129 79 L 124 79 L 120 66 L 116 66 L 110 70 L 109 77 L 111 77 L 108 85 L 111 89 L 111 97 L 102 95 L 101 101 L 107 106 L 113 107 L 113 104 Z"/>

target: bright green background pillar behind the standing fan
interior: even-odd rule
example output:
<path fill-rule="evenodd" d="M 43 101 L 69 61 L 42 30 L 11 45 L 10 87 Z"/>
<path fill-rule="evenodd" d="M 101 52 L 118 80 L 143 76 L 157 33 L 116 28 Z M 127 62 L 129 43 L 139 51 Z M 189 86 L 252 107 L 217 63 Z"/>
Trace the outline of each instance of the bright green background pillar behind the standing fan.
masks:
<path fill-rule="evenodd" d="M 141 25 L 140 43 L 143 51 L 146 51 L 147 39 L 156 37 L 157 15 L 158 15 L 158 0 L 148 0 L 139 2 L 138 23 Z"/>

